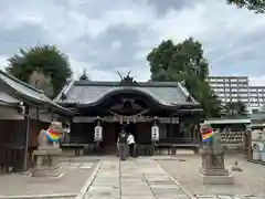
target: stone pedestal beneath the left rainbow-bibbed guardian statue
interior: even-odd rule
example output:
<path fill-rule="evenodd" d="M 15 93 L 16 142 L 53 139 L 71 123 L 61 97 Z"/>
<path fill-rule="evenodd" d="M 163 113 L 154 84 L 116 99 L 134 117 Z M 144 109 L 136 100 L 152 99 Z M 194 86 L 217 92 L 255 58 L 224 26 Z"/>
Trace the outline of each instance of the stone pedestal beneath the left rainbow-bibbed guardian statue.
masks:
<path fill-rule="evenodd" d="M 64 174 L 60 168 L 62 149 L 56 147 L 39 147 L 33 151 L 34 167 L 31 169 L 31 180 L 56 181 Z"/>

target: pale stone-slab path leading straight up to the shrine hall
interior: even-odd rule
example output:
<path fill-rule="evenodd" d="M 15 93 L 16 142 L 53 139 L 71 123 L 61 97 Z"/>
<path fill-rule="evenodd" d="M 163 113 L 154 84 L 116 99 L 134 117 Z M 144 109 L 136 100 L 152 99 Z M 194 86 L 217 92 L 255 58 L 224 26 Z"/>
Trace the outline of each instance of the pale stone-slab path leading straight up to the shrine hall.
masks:
<path fill-rule="evenodd" d="M 192 196 L 151 159 L 105 159 L 83 199 L 262 199 L 251 196 Z"/>

